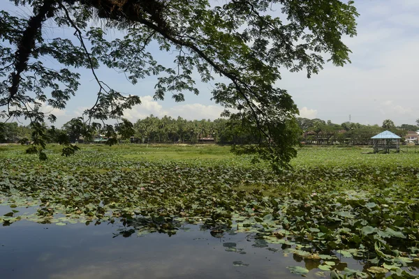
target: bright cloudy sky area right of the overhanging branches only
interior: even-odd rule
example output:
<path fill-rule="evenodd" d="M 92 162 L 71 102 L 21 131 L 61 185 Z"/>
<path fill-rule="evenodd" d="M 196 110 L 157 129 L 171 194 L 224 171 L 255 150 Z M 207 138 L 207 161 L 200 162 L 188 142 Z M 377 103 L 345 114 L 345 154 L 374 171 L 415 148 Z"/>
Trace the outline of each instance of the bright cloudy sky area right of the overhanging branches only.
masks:
<path fill-rule="evenodd" d="M 328 63 L 310 80 L 304 73 L 284 72 L 278 85 L 298 107 L 315 107 L 318 118 L 334 123 L 348 121 L 349 114 L 360 123 L 381 123 L 383 118 L 398 125 L 414 123 L 419 116 L 419 32 L 411 14 L 419 1 L 361 1 L 355 6 L 358 36 L 344 39 L 353 51 L 352 63 L 343 68 Z M 386 15 L 389 10 L 395 17 Z M 384 105 L 385 100 L 394 102 Z"/>

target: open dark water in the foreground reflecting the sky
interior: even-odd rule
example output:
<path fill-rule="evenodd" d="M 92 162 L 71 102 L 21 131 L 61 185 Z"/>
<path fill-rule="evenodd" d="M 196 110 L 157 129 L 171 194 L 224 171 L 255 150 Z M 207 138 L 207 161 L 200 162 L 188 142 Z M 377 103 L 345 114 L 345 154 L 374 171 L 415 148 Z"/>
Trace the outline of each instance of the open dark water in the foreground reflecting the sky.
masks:
<path fill-rule="evenodd" d="M 10 211 L 2 207 L 1 215 Z M 251 234 L 213 236 L 199 225 L 181 227 L 172 236 L 136 232 L 124 236 L 122 229 L 131 227 L 27 220 L 2 226 L 0 278 L 301 278 L 287 266 L 309 269 L 308 278 L 330 278 L 328 271 L 318 273 L 321 261 L 284 254 L 285 247 L 279 244 L 260 245 Z M 335 267 L 362 270 L 359 262 L 345 260 Z"/>

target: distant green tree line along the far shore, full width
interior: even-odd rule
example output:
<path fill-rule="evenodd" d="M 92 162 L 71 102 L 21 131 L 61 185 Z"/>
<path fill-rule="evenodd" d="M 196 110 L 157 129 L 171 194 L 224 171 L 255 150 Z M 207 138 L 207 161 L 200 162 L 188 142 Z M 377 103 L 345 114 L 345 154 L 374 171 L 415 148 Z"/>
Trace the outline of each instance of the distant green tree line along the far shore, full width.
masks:
<path fill-rule="evenodd" d="M 303 144 L 371 144 L 371 137 L 390 130 L 396 135 L 403 137 L 409 130 L 418 130 L 417 125 L 402 124 L 395 126 L 393 121 L 386 119 L 381 126 L 362 125 L 360 123 L 344 122 L 341 124 L 324 121 L 322 119 L 297 118 L 301 129 L 300 142 Z M 86 130 L 89 129 L 89 130 Z M 216 144 L 251 144 L 258 139 L 243 128 L 240 120 L 215 119 L 211 120 L 186 120 L 182 117 L 161 118 L 150 115 L 145 119 L 139 119 L 131 123 L 126 119 L 115 125 L 115 130 L 109 130 L 110 126 L 96 123 L 87 126 L 81 119 L 72 119 L 65 123 L 61 129 L 54 126 L 47 127 L 46 133 L 49 142 L 57 142 L 56 139 L 63 133 L 68 135 L 71 142 L 94 142 L 98 137 L 109 138 L 115 142 L 126 140 L 135 143 L 188 143 L 214 142 Z M 30 126 L 18 125 L 18 123 L 0 123 L 0 142 L 31 141 L 32 129 Z M 82 136 L 84 135 L 84 136 Z M 117 135 L 117 138 L 115 138 Z"/>

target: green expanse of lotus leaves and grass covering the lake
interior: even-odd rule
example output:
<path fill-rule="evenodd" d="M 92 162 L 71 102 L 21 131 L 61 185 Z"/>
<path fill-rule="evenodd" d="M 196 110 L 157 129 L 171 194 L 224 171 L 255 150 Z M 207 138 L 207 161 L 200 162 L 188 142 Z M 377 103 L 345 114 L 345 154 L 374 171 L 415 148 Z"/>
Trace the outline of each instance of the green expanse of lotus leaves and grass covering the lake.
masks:
<path fill-rule="evenodd" d="M 59 149 L 49 146 L 49 159 L 40 162 L 24 146 L 0 146 L 0 204 L 10 206 L 3 225 L 118 219 L 138 234 L 173 234 L 183 223 L 203 223 L 285 244 L 322 270 L 353 257 L 365 270 L 347 274 L 415 276 L 414 149 L 365 154 L 371 150 L 307 146 L 283 174 L 233 156 L 228 146 L 85 145 L 70 158 Z"/>

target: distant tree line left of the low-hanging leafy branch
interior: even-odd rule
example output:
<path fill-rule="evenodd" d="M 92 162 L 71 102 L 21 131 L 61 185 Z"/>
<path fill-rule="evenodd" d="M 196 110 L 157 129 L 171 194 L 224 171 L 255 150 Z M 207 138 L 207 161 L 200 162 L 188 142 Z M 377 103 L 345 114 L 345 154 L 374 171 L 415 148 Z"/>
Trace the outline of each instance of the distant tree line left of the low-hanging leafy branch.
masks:
<path fill-rule="evenodd" d="M 131 123 L 123 119 L 123 123 L 116 123 L 115 130 L 109 130 L 106 124 L 94 123 L 87 126 L 81 119 L 72 119 L 65 123 L 61 129 L 54 126 L 47 127 L 48 143 L 57 142 L 62 133 L 68 135 L 70 142 L 94 142 L 97 139 L 128 141 L 134 143 L 188 143 L 213 142 L 217 144 L 249 144 L 256 142 L 254 136 L 244 128 L 240 121 L 228 119 L 193 120 L 182 117 L 177 119 L 170 116 L 162 118 L 150 115 Z M 18 123 L 0 124 L 0 142 L 17 143 L 31 142 L 32 128 L 19 126 Z M 115 138 L 115 135 L 117 137 Z"/>

